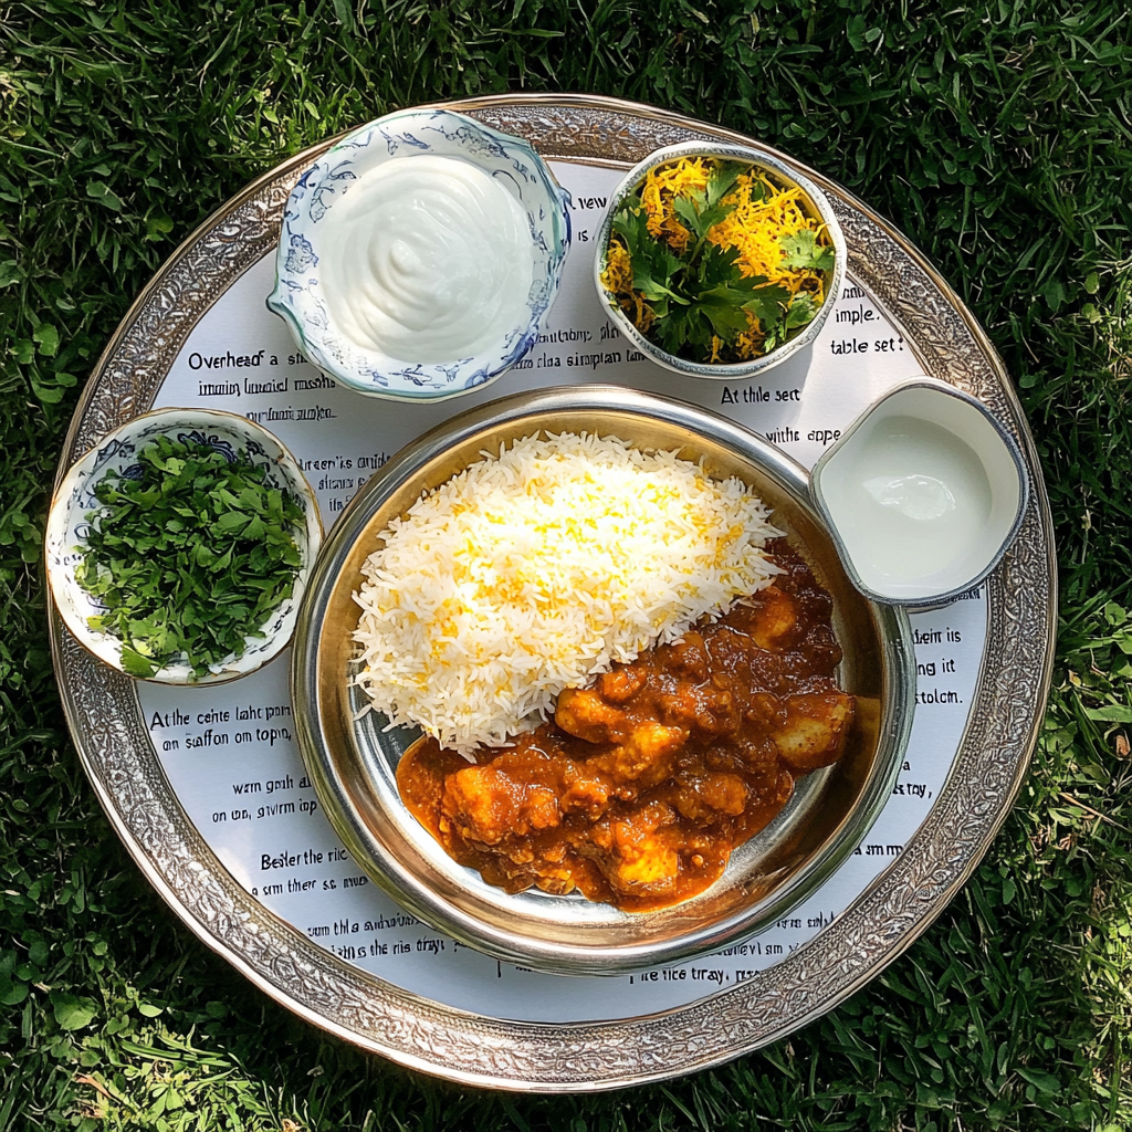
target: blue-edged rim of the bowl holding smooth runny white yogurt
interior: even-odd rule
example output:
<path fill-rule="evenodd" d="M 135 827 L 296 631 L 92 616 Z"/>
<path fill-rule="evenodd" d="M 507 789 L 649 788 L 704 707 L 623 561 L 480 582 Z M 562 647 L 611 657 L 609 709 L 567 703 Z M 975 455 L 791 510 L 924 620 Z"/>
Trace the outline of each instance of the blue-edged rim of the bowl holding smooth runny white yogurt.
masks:
<path fill-rule="evenodd" d="M 945 590 L 941 593 L 928 593 L 918 598 L 893 597 L 891 593 L 874 590 L 861 580 L 861 576 L 857 572 L 857 567 L 854 565 L 854 560 L 846 548 L 844 541 L 841 538 L 841 532 L 834 522 L 833 513 L 830 511 L 830 507 L 825 501 L 825 496 L 822 494 L 822 472 L 825 470 L 833 456 L 846 446 L 846 443 L 860 430 L 860 428 L 873 417 L 881 405 L 883 405 L 886 401 L 891 401 L 898 394 L 906 393 L 908 389 L 931 389 L 933 393 L 954 397 L 957 401 L 962 401 L 966 404 L 971 405 L 986 418 L 987 422 L 995 430 L 995 434 L 998 439 L 1002 440 L 1003 446 L 1010 454 L 1010 457 L 1014 463 L 1014 468 L 1018 471 L 1018 509 L 1014 513 L 1014 518 L 1010 524 L 1010 529 L 1006 531 L 1006 534 L 1002 540 L 1002 544 L 995 554 L 992 555 L 990 560 L 983 569 L 974 575 L 974 577 L 969 581 L 964 581 L 962 585 L 953 586 L 952 589 Z M 975 586 L 985 582 L 995 567 L 1002 561 L 1006 551 L 1011 548 L 1014 539 L 1018 537 L 1018 532 L 1022 525 L 1022 520 L 1026 517 L 1026 508 L 1030 499 L 1030 475 L 1027 471 L 1026 461 L 1022 458 L 1022 451 L 1019 448 L 1018 441 L 1010 434 L 1002 421 L 1000 421 L 994 413 L 992 413 L 987 406 L 983 404 L 981 401 L 977 397 L 972 397 L 969 393 L 964 393 L 962 389 L 957 389 L 953 385 L 947 385 L 946 381 L 940 381 L 931 377 L 918 377 L 911 378 L 908 381 L 901 381 L 899 385 L 894 385 L 891 389 L 883 393 L 876 398 L 876 401 L 865 409 L 865 411 L 844 430 L 844 432 L 841 434 L 840 437 L 838 437 L 837 440 L 833 441 L 833 444 L 825 452 L 822 453 L 809 472 L 809 494 L 814 500 L 814 506 L 817 508 L 823 522 L 829 528 L 830 538 L 832 538 L 833 544 L 837 547 L 838 556 L 841 558 L 841 565 L 844 568 L 849 581 L 852 582 L 852 584 L 866 598 L 883 606 L 903 606 L 908 609 L 928 610 L 935 609 L 940 606 L 946 606 L 957 598 L 961 598 L 964 593 L 969 593 L 975 589 Z"/>

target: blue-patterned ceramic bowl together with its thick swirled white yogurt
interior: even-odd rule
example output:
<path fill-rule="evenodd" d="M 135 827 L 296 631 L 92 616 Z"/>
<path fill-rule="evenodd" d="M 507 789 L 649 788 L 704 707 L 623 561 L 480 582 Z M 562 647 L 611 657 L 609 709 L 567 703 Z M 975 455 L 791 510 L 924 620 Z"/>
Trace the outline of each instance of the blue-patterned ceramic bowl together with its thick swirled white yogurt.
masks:
<path fill-rule="evenodd" d="M 561 281 L 567 200 L 520 138 L 448 110 L 389 114 L 299 179 L 267 305 L 343 385 L 468 393 L 535 342 Z"/>

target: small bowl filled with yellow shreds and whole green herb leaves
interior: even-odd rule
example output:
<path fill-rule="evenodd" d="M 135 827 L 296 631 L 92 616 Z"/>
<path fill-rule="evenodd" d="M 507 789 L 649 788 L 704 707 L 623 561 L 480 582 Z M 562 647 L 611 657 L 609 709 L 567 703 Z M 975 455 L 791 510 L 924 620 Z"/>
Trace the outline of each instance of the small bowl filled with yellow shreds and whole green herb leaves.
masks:
<path fill-rule="evenodd" d="M 751 377 L 805 349 L 844 275 L 825 194 L 774 154 L 685 142 L 615 191 L 594 278 L 637 349 L 696 377 Z"/>

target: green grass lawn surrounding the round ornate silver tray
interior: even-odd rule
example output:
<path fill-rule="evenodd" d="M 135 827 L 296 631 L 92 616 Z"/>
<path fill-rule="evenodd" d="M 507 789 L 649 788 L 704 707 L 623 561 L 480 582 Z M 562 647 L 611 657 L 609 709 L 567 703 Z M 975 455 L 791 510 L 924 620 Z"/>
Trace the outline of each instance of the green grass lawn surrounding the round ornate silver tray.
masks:
<path fill-rule="evenodd" d="M 0 2 L 0 1130 L 1132 1124 L 1130 27 L 1118 0 Z M 787 1041 L 568 1099 L 365 1057 L 174 921 L 78 766 L 38 564 L 82 385 L 200 220 L 348 126 L 517 89 L 719 121 L 891 217 L 1006 360 L 1062 564 L 1032 772 L 936 925 Z"/>

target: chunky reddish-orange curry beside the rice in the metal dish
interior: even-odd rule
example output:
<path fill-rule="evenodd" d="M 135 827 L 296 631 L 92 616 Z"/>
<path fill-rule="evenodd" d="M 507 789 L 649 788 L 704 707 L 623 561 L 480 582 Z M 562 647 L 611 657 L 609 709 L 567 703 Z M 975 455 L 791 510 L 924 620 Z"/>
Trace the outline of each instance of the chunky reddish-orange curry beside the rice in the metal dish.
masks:
<path fill-rule="evenodd" d="M 470 763 L 415 744 L 397 767 L 405 805 L 508 892 L 576 890 L 626 911 L 702 892 L 796 778 L 841 756 L 854 721 L 830 595 L 783 540 L 769 551 L 772 585 L 567 688 L 512 745 Z"/>

